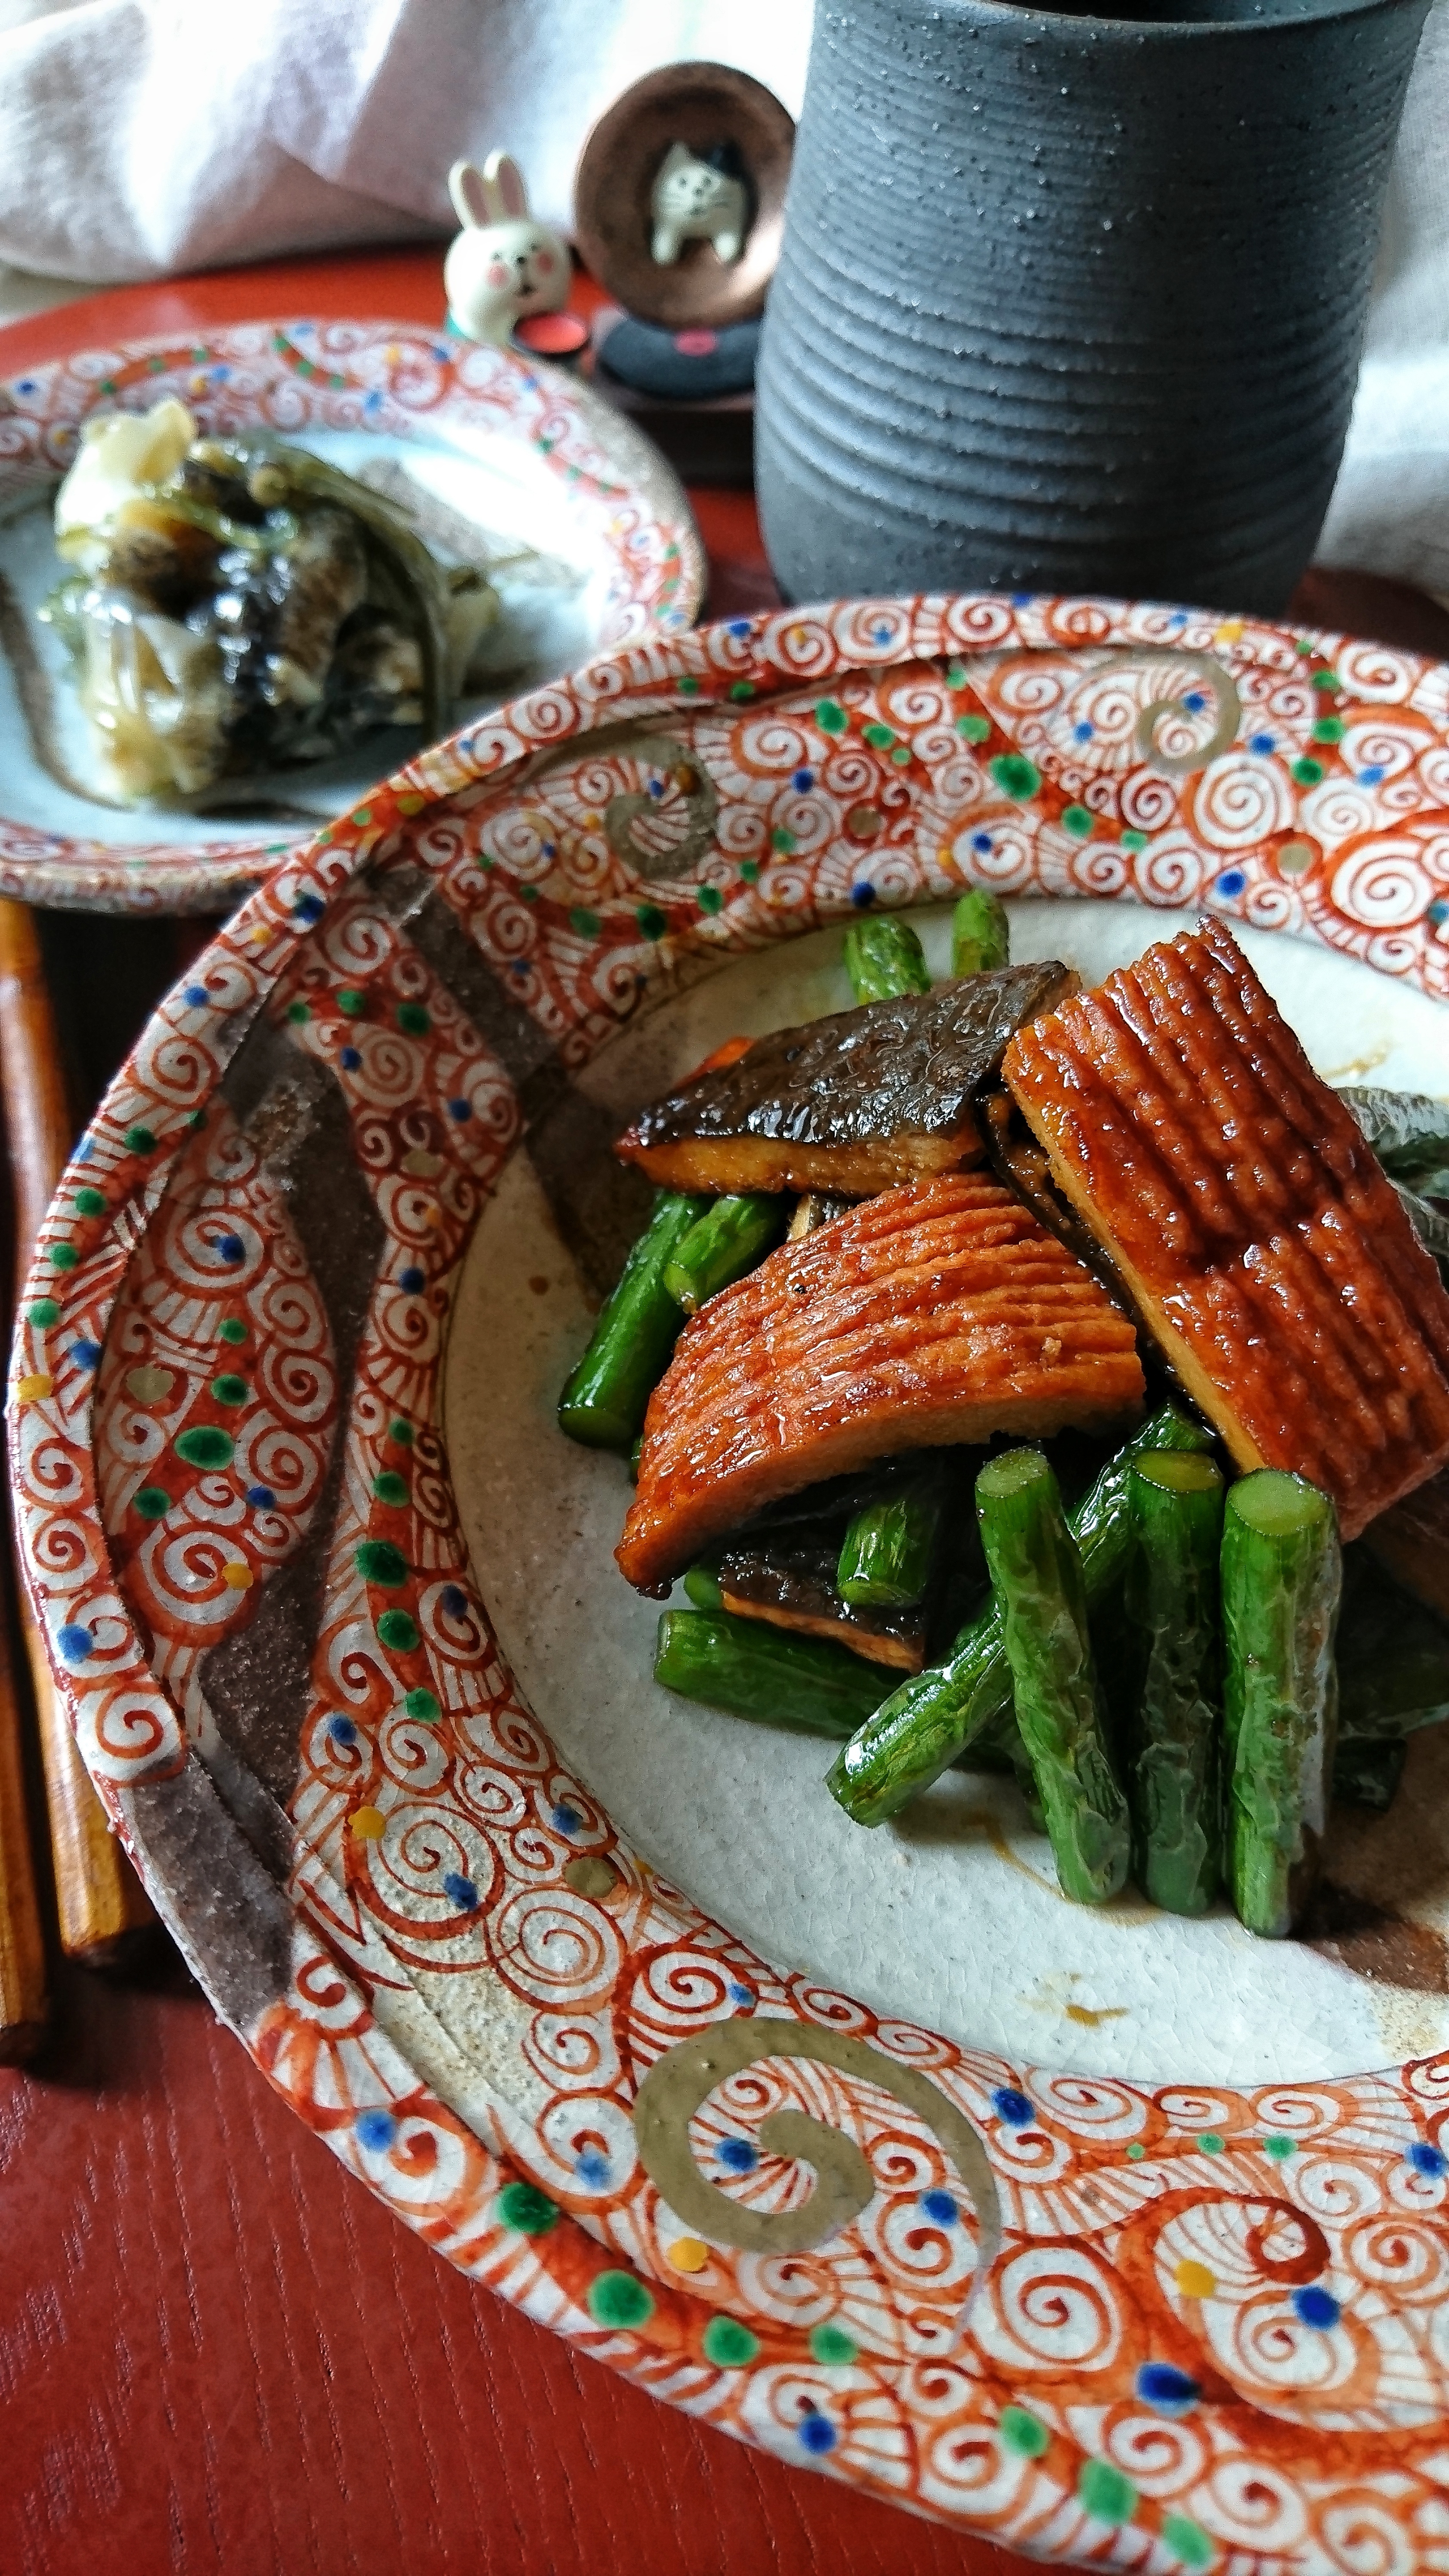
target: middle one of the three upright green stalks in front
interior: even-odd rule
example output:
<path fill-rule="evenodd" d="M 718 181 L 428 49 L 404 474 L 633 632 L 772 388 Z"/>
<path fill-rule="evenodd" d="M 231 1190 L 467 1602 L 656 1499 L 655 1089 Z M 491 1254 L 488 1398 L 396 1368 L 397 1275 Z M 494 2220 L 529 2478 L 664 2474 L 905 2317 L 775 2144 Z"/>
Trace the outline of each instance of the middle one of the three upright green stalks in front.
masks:
<path fill-rule="evenodd" d="M 1132 1870 L 1168 1914 L 1207 1914 L 1222 1878 L 1222 1476 L 1199 1453 L 1147 1450 L 1129 1499 L 1127 1618 L 1140 1659 L 1127 1770 Z"/>

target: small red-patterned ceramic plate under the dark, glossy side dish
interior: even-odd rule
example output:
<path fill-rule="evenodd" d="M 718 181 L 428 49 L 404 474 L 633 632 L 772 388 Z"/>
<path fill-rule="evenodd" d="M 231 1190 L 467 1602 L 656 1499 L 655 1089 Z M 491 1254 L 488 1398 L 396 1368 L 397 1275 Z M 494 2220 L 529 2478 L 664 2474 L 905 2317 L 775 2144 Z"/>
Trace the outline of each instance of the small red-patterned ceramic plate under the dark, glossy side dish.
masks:
<path fill-rule="evenodd" d="M 248 322 L 124 340 L 0 384 L 0 891 L 98 912 L 224 912 L 415 747 L 222 781 L 204 811 L 124 804 L 98 773 L 57 629 L 52 505 L 93 412 L 178 397 L 206 435 L 268 428 L 402 502 L 500 600 L 454 721 L 699 616 L 704 551 L 647 438 L 588 386 L 418 325 Z"/>

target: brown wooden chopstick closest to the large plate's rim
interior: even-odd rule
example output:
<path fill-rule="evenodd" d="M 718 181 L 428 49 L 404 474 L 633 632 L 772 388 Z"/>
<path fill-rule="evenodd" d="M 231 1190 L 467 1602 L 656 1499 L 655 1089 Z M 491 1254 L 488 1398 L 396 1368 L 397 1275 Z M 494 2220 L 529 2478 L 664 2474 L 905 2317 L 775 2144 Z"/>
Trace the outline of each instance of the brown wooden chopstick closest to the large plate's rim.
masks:
<path fill-rule="evenodd" d="M 75 1121 L 36 917 L 28 904 L 5 896 L 0 896 L 0 1095 L 15 1208 L 15 1288 L 21 1288 L 75 1141 Z M 155 1914 L 90 1788 L 23 1592 L 21 1631 L 41 1736 L 59 1942 L 67 1958 L 106 1968 L 131 1945 L 134 1932 L 155 1922 Z"/>

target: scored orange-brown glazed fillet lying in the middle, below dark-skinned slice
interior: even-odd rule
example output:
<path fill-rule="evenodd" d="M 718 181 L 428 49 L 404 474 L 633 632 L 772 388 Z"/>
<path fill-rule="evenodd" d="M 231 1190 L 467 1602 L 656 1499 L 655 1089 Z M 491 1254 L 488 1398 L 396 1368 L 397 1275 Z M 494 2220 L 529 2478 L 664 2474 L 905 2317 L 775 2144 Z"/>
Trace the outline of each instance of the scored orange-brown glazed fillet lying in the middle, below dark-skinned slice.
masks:
<path fill-rule="evenodd" d="M 722 1288 L 650 1396 L 616 1548 L 652 1592 L 776 1494 L 910 1448 L 1129 1425 L 1132 1324 L 985 1172 L 884 1190 Z"/>

